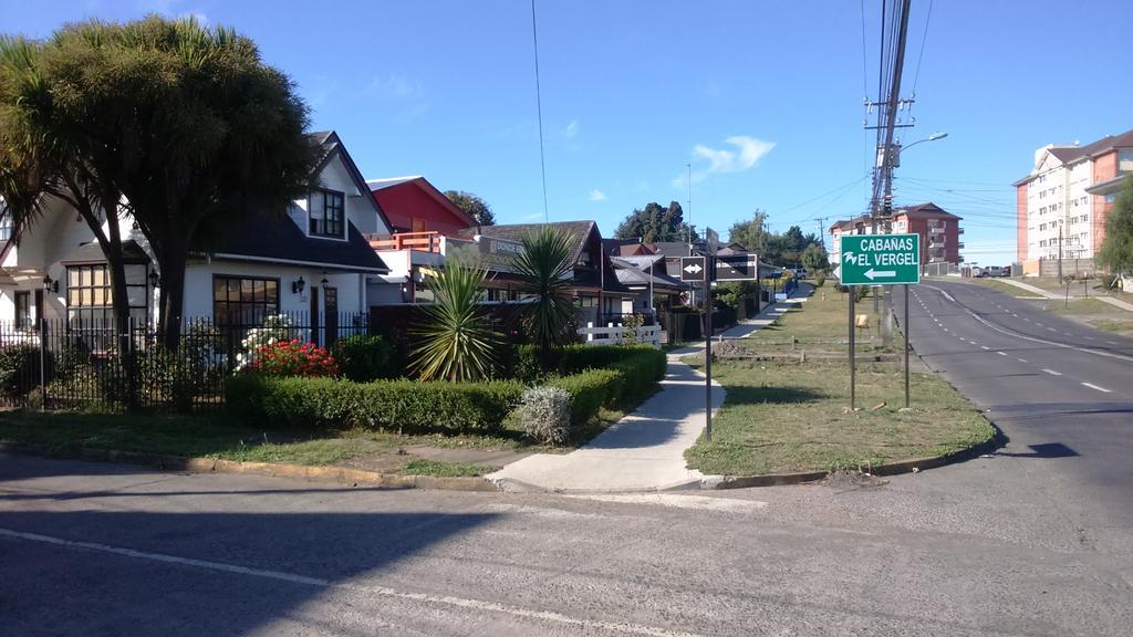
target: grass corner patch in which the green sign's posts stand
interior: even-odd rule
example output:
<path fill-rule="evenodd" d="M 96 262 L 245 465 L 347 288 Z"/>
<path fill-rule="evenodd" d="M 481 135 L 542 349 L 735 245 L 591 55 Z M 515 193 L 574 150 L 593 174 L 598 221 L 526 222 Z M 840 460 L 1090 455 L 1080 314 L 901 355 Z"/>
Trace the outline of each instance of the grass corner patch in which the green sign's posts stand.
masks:
<path fill-rule="evenodd" d="M 896 366 L 858 370 L 858 405 L 850 404 L 843 364 L 718 363 L 714 376 L 727 398 L 713 421 L 713 442 L 685 451 L 706 474 L 760 475 L 832 470 L 943 456 L 991 440 L 987 419 L 947 382 L 912 374 L 913 409 L 903 405 Z M 886 402 L 877 411 L 870 407 Z"/>

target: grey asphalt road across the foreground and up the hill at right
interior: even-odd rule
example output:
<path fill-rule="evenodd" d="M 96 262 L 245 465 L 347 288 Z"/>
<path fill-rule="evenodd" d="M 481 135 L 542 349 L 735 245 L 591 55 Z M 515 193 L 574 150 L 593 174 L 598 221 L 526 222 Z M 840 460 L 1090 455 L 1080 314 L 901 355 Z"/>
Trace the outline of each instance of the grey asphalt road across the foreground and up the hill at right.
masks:
<path fill-rule="evenodd" d="M 1130 362 L 1012 336 L 1025 316 L 1028 338 L 1099 338 L 989 290 L 928 283 L 912 305 L 918 351 L 1011 438 L 998 453 L 624 496 L 0 455 L 0 634 L 1128 635 Z"/>

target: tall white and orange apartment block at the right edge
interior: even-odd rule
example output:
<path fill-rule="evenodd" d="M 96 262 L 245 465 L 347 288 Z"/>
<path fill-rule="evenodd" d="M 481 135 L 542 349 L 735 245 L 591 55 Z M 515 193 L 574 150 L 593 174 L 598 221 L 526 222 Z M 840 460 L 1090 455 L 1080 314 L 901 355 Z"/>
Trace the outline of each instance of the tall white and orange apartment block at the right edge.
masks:
<path fill-rule="evenodd" d="M 1106 215 L 1133 172 L 1133 130 L 1084 146 L 1047 144 L 1034 151 L 1031 173 L 1015 187 L 1017 258 L 1037 274 L 1042 261 L 1092 260 L 1106 235 Z"/>

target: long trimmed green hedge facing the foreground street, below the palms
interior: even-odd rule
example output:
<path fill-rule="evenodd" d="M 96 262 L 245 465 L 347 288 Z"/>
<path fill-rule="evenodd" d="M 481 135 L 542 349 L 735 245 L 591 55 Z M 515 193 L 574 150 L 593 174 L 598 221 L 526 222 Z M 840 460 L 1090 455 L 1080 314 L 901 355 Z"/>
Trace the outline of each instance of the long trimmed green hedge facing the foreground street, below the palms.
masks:
<path fill-rule="evenodd" d="M 522 383 L 445 383 L 233 376 L 229 410 L 247 423 L 291 428 L 364 427 L 409 434 L 496 430 Z"/>

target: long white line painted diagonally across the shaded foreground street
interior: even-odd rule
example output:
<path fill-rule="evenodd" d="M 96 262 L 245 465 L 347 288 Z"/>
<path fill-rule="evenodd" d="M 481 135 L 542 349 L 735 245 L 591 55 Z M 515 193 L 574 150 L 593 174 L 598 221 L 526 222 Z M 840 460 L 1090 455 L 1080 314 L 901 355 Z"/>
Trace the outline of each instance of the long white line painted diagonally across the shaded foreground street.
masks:
<path fill-rule="evenodd" d="M 454 606 L 460 609 L 471 609 L 476 611 L 494 612 L 526 620 L 546 621 L 563 626 L 574 626 L 580 628 L 586 628 L 593 631 L 610 631 L 610 632 L 620 632 L 623 635 L 649 635 L 651 637 L 698 637 L 693 632 L 667 630 L 664 628 L 657 628 L 653 626 L 642 626 L 640 623 L 580 619 L 551 611 L 537 611 L 520 606 L 499 604 L 496 602 L 485 602 L 483 600 L 469 600 L 465 597 L 454 597 L 451 595 L 431 595 L 428 593 L 410 593 L 408 591 L 399 591 L 397 588 L 390 588 L 387 586 L 372 586 L 372 585 L 356 584 L 356 583 L 339 583 L 339 581 L 332 581 L 330 579 L 323 579 L 321 577 L 307 577 L 304 575 L 296 575 L 278 570 L 248 568 L 237 564 L 229 564 L 225 562 L 214 562 L 211 560 L 179 558 L 177 555 L 168 555 L 164 553 L 150 553 L 146 551 L 136 551 L 134 549 L 125 549 L 121 546 L 111 546 L 109 544 L 63 540 L 62 537 L 40 535 L 37 533 L 24 533 L 20 530 L 11 530 L 7 528 L 0 528 L 0 536 L 10 537 L 14 540 L 24 540 L 27 542 L 39 542 L 41 544 L 65 546 L 68 549 L 84 549 L 87 551 L 110 553 L 114 555 L 121 555 L 125 558 L 148 560 L 152 562 L 195 567 L 220 572 L 259 577 L 263 579 L 274 579 L 276 581 L 288 581 L 290 584 L 313 586 L 316 588 L 330 588 L 330 589 L 370 593 L 375 595 L 381 595 L 383 597 L 393 597 L 407 602 L 436 604 L 442 606 Z"/>

